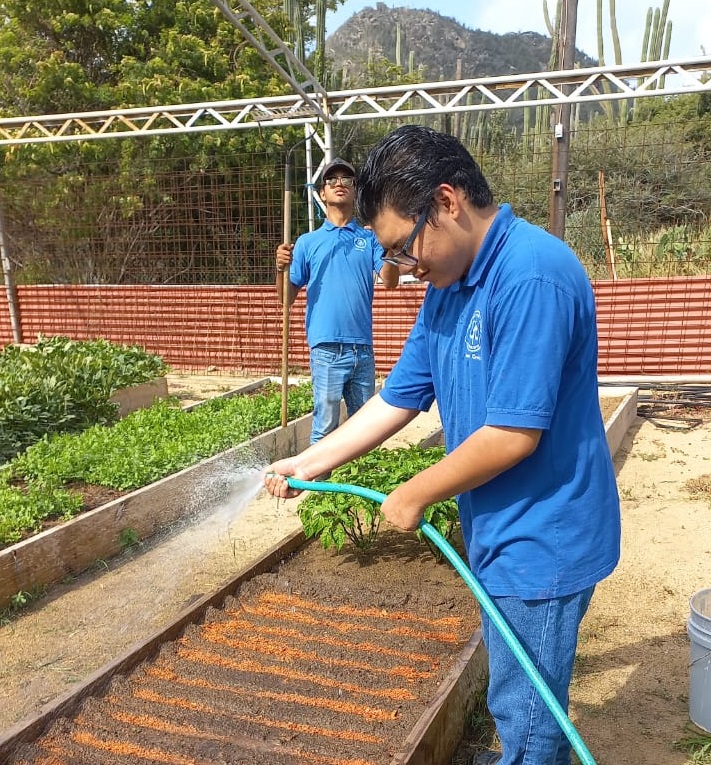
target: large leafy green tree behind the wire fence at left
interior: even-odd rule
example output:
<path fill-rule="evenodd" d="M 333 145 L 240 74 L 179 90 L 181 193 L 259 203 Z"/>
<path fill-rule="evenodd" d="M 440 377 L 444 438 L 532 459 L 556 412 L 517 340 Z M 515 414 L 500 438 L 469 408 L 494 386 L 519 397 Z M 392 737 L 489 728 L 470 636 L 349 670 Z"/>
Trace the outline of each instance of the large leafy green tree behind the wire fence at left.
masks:
<path fill-rule="evenodd" d="M 263 0 L 258 10 L 287 34 L 280 3 Z M 40 13 L 24 0 L 1 0 L 0 78 L 6 116 L 288 92 L 204 0 L 51 0 Z M 245 219 L 244 200 L 225 189 L 244 186 L 256 196 L 251 205 L 276 207 L 278 216 L 274 189 L 290 140 L 290 131 L 249 130 L 3 150 L 18 281 L 244 280 L 234 274 L 242 248 L 245 270 L 271 264 L 269 218 Z M 183 174 L 179 188 L 171 173 Z M 224 220 L 209 218 L 213 206 L 227 211 Z"/>

